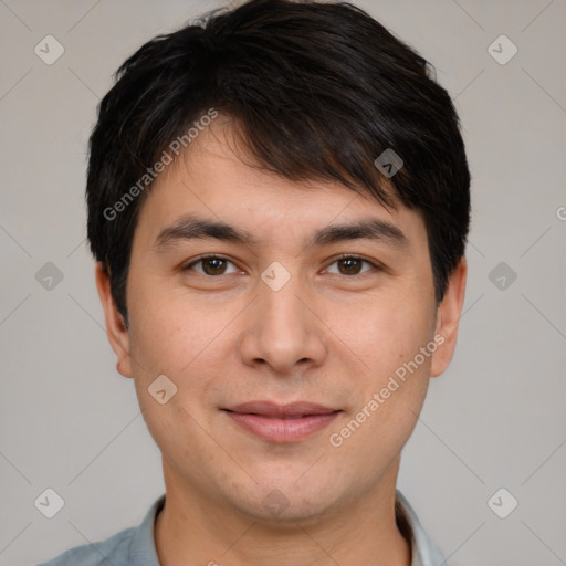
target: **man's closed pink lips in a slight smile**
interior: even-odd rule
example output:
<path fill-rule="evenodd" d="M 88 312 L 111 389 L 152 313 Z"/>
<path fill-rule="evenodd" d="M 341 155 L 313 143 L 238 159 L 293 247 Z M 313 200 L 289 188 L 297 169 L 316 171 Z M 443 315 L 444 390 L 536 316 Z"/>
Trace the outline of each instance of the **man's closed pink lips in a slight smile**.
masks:
<path fill-rule="evenodd" d="M 305 440 L 326 428 L 342 412 L 306 401 L 291 405 L 251 401 L 222 411 L 247 432 L 277 443 Z"/>

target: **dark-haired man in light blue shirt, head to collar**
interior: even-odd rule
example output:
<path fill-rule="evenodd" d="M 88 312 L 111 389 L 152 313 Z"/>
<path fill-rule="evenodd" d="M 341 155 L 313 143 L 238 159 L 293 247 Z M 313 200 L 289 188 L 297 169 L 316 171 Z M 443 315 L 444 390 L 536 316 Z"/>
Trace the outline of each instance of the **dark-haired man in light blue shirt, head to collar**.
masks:
<path fill-rule="evenodd" d="M 166 494 L 46 564 L 443 564 L 396 490 L 467 276 L 427 62 L 353 6 L 252 0 L 129 57 L 90 149 L 108 339 Z"/>

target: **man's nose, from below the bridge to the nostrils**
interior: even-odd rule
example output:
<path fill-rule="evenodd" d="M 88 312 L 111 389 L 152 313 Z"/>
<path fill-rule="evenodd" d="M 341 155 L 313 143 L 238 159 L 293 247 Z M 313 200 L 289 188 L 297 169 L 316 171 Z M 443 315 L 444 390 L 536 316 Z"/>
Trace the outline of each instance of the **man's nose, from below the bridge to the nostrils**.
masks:
<path fill-rule="evenodd" d="M 247 310 L 241 356 L 250 366 L 268 365 L 273 373 L 292 376 L 318 366 L 327 355 L 326 326 L 317 314 L 317 301 L 291 276 L 275 291 L 259 282 L 259 296 Z"/>

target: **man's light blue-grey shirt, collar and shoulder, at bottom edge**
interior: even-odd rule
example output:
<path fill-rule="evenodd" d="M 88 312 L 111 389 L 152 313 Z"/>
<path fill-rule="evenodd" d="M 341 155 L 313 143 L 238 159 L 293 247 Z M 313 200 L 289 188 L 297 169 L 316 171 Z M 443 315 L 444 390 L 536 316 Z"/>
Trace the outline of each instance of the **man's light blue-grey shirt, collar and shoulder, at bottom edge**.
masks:
<path fill-rule="evenodd" d="M 165 504 L 165 495 L 151 504 L 139 526 L 120 531 L 105 541 L 75 546 L 38 566 L 160 566 L 154 526 Z M 399 490 L 396 491 L 396 516 L 399 530 L 411 539 L 411 566 L 442 566 L 444 558 L 440 549 L 429 538 L 415 510 Z"/>

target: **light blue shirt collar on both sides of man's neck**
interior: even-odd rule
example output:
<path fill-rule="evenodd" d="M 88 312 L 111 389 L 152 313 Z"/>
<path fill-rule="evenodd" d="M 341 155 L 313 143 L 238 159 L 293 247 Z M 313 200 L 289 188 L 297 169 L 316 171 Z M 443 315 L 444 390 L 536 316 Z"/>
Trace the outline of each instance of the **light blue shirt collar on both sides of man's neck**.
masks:
<path fill-rule="evenodd" d="M 129 547 L 130 564 L 136 566 L 160 566 L 155 547 L 155 520 L 165 505 L 165 493 L 149 507 L 144 521 L 136 530 Z M 410 538 L 412 559 L 411 566 L 440 566 L 444 557 L 438 546 L 422 528 L 420 521 L 405 495 L 396 490 L 396 518 L 403 536 Z"/>

